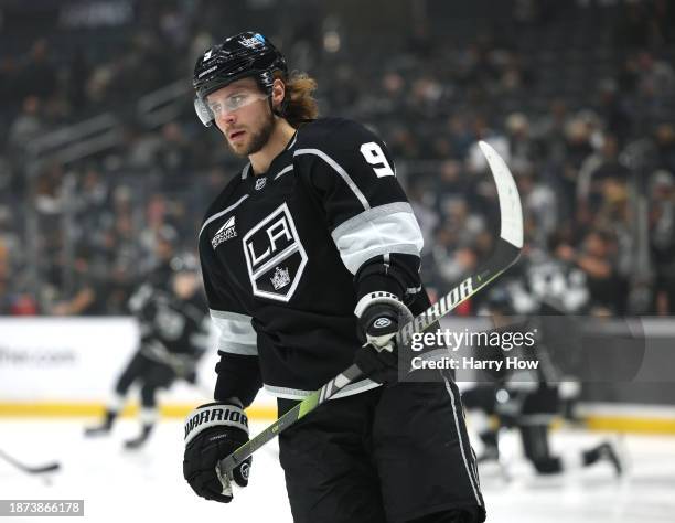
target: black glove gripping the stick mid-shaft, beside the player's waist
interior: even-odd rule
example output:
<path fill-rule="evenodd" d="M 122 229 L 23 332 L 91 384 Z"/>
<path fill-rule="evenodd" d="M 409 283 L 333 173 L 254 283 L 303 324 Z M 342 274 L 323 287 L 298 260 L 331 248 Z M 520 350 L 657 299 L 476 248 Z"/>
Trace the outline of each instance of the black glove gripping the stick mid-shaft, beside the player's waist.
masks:
<path fill-rule="evenodd" d="M 378 383 L 398 381 L 398 352 L 396 333 L 401 321 L 413 314 L 408 308 L 389 292 L 371 292 L 364 296 L 354 313 L 365 337 L 365 344 L 356 351 L 354 363 L 364 376 Z"/>

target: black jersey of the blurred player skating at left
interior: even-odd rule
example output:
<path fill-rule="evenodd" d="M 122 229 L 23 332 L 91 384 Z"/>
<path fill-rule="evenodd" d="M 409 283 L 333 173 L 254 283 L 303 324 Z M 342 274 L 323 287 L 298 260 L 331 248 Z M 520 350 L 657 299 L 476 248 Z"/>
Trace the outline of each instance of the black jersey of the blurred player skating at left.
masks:
<path fill-rule="evenodd" d="M 129 299 L 140 327 L 140 351 L 179 374 L 194 371 L 210 342 L 211 321 L 203 297 L 182 300 L 149 278 Z"/>

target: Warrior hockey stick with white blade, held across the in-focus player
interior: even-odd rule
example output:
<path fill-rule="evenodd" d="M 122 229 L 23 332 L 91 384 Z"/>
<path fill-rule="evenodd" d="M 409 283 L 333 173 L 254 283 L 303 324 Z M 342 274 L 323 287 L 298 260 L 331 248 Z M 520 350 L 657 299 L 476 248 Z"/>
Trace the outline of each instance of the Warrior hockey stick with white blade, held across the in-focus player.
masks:
<path fill-rule="evenodd" d="M 494 253 L 475 275 L 464 279 L 452 288 L 450 292 L 441 297 L 438 302 L 406 323 L 396 335 L 398 346 L 404 346 L 410 341 L 413 334 L 424 331 L 457 306 L 471 298 L 511 267 L 521 255 L 521 249 L 523 248 L 523 211 L 515 181 L 502 157 L 490 145 L 480 141 L 479 147 L 492 171 L 500 202 L 501 231 Z M 338 374 L 333 380 L 307 396 L 255 438 L 222 459 L 218 463 L 221 473 L 232 472 L 235 467 L 266 442 L 274 439 L 279 433 L 290 427 L 298 419 L 307 416 L 319 405 L 333 397 L 361 376 L 362 372 L 355 364 Z"/>

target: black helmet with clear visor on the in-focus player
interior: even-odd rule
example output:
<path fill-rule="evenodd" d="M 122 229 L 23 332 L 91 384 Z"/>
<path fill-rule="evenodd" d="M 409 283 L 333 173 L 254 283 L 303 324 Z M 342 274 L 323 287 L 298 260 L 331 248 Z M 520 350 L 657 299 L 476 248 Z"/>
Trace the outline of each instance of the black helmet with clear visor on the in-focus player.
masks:
<path fill-rule="evenodd" d="M 205 103 L 211 93 L 237 79 L 254 77 L 260 89 L 269 95 L 276 71 L 288 73 L 286 58 L 260 33 L 245 31 L 207 50 L 197 58 L 192 81 L 196 93 L 194 108 L 202 124 L 210 127 L 214 120 Z"/>

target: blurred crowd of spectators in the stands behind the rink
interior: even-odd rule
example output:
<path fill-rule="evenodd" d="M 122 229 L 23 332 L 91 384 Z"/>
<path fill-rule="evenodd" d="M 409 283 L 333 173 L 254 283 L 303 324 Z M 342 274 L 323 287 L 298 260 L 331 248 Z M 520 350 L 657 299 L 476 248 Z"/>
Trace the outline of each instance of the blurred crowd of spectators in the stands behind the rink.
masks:
<path fill-rule="evenodd" d="M 482 139 L 521 191 L 526 248 L 512 276 L 528 291 L 545 278 L 560 296 L 585 289 L 570 312 L 675 313 L 673 2 L 514 0 L 506 26 L 428 12 L 396 44 L 365 46 L 339 17 L 308 22 L 312 2 L 290 2 L 309 14 L 278 26 L 265 17 L 276 2 L 258 3 L 268 22 L 256 26 L 319 81 L 321 113 L 357 119 L 389 146 L 431 290 L 493 247 Z M 153 266 L 194 248 L 202 213 L 242 167 L 194 117 L 189 90 L 194 58 L 249 29 L 244 8 L 224 9 L 138 2 L 119 41 L 115 28 L 85 31 L 86 46 L 51 35 L 0 51 L 0 314 L 125 313 Z M 175 82 L 185 90 L 174 117 L 138 118 L 141 96 Z M 28 168 L 33 140 L 104 111 L 118 142 Z M 537 276 L 544 266 L 556 269 Z"/>

